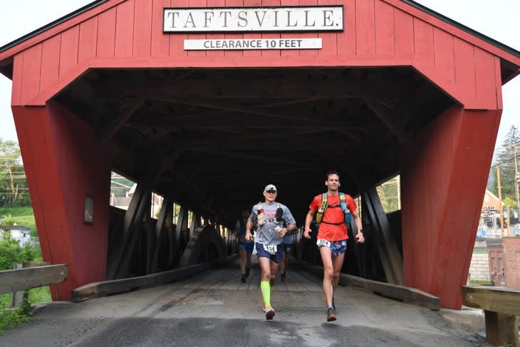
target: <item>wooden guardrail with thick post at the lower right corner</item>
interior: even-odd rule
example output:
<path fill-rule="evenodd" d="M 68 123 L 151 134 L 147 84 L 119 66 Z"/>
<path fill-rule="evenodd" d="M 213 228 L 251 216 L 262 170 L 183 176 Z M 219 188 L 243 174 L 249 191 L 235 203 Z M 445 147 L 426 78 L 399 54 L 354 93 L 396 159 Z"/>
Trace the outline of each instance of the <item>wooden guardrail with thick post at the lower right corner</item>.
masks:
<path fill-rule="evenodd" d="M 462 304 L 484 310 L 487 343 L 520 347 L 520 291 L 494 286 L 462 286 Z"/>

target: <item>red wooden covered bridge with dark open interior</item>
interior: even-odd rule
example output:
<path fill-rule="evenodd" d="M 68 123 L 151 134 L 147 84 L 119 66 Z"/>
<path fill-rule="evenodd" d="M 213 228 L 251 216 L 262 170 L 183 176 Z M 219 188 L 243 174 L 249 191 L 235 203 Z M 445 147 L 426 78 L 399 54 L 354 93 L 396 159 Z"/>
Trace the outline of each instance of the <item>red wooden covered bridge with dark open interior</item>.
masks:
<path fill-rule="evenodd" d="M 236 27 L 204 14 L 217 10 Z M 189 257 L 194 231 L 211 224 L 229 246 L 267 183 L 301 225 L 334 169 L 362 197 L 368 239 L 345 271 L 459 309 L 501 86 L 519 66 L 520 52 L 410 0 L 99 0 L 9 43 L 0 72 L 43 257 L 69 266 L 53 299 L 222 257 L 212 237 Z M 111 171 L 138 183 L 127 211 L 109 206 Z M 386 215 L 375 187 L 394 175 L 402 209 Z M 318 261 L 303 242 L 296 255 Z"/>

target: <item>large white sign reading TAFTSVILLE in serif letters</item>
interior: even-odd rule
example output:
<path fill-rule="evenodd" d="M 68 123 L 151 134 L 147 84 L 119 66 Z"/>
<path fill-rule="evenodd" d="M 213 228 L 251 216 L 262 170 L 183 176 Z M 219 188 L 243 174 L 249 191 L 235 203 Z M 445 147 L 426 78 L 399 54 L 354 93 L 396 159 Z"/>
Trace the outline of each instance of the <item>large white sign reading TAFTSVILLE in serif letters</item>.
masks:
<path fill-rule="evenodd" d="M 162 31 L 165 33 L 343 31 L 343 5 L 165 8 Z"/>

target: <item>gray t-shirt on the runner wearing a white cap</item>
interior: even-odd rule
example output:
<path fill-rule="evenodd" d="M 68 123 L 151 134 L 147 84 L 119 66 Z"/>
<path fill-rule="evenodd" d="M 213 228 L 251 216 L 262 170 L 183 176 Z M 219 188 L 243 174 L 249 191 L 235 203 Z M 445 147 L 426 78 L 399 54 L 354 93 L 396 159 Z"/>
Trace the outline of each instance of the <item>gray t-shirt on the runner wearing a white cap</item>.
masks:
<path fill-rule="evenodd" d="M 281 208 L 284 211 L 282 214 L 281 220 L 276 220 L 276 209 Z M 273 204 L 266 204 L 265 202 L 254 205 L 251 210 L 251 215 L 249 219 L 252 222 L 258 222 L 259 210 L 262 210 L 264 214 L 265 224 L 258 225 L 256 228 L 256 242 L 267 245 L 281 244 L 284 240 L 282 237 L 278 236 L 278 232 L 276 229 L 287 227 L 289 224 L 296 224 L 294 220 L 293 214 L 291 211 L 284 205 L 279 202 L 274 202 Z"/>

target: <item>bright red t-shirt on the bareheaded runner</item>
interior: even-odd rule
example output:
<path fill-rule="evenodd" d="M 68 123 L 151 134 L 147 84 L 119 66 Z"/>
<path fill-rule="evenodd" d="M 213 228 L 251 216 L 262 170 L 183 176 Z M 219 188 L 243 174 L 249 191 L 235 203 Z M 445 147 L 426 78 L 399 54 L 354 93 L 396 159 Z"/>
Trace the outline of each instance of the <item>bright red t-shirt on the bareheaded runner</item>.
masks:
<path fill-rule="evenodd" d="M 350 212 L 358 210 L 358 206 L 350 195 L 345 194 L 345 201 L 347 202 L 348 209 Z M 327 195 L 328 206 L 338 207 L 327 207 L 323 214 L 323 219 L 318 229 L 318 239 L 326 239 L 327 241 L 340 241 L 348 239 L 347 225 L 345 224 L 345 214 L 343 209 L 340 207 L 340 196 L 338 195 Z M 314 197 L 311 204 L 308 206 L 309 209 L 314 212 L 318 211 L 321 207 L 321 194 Z M 341 224 L 327 224 L 328 223 L 341 223 Z"/>

